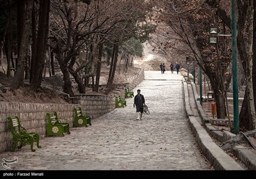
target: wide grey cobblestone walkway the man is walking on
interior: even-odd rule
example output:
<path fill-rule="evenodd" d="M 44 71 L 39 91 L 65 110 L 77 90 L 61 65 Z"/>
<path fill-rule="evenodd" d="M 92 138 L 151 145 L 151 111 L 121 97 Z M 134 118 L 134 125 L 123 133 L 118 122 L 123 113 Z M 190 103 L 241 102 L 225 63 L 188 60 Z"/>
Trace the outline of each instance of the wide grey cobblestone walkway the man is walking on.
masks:
<path fill-rule="evenodd" d="M 51 170 L 205 170 L 211 169 L 195 144 L 184 109 L 182 76 L 170 72 L 145 72 L 141 89 L 150 115 L 136 120 L 134 98 L 92 120 L 87 128 L 71 128 L 65 137 L 40 140 L 1 159 L 19 157 L 11 169 Z M 0 169 L 4 169 L 1 165 Z"/>

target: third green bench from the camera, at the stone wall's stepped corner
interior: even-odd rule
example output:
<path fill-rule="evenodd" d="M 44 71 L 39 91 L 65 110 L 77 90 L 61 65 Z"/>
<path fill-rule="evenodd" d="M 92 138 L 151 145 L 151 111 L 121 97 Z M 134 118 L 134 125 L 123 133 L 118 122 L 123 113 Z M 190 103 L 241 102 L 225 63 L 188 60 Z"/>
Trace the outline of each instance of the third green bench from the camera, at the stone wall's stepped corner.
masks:
<path fill-rule="evenodd" d="M 74 127 L 92 125 L 91 117 L 88 113 L 82 113 L 81 107 L 74 108 Z"/>

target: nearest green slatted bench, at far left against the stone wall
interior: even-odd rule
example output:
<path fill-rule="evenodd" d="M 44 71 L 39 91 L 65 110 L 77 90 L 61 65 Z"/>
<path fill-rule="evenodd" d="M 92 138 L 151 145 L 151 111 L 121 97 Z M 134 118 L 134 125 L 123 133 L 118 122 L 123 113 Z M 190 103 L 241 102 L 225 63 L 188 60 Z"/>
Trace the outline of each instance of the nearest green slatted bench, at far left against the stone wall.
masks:
<path fill-rule="evenodd" d="M 10 127 L 13 136 L 13 152 L 15 152 L 16 148 L 22 148 L 22 146 L 26 146 L 26 144 L 30 144 L 31 151 L 35 152 L 36 150 L 33 149 L 34 142 L 36 142 L 37 148 L 41 148 L 41 146 L 39 145 L 38 133 L 28 133 L 27 130 L 20 125 L 20 120 L 18 116 L 8 117 L 8 120 L 10 120 Z"/>

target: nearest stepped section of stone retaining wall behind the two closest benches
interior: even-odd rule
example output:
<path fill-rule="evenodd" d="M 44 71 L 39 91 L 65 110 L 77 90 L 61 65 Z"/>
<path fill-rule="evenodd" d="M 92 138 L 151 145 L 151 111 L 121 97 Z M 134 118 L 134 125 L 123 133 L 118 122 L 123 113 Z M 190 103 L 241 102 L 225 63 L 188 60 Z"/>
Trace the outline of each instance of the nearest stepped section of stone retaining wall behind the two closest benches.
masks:
<path fill-rule="evenodd" d="M 73 108 L 75 104 L 35 104 L 35 103 L 0 103 L 0 152 L 6 151 L 12 146 L 12 133 L 10 132 L 10 122 L 8 116 L 18 116 L 22 127 L 27 132 L 37 132 L 40 139 L 46 134 L 45 114 L 56 111 L 60 118 L 67 118 L 72 126 Z"/>

